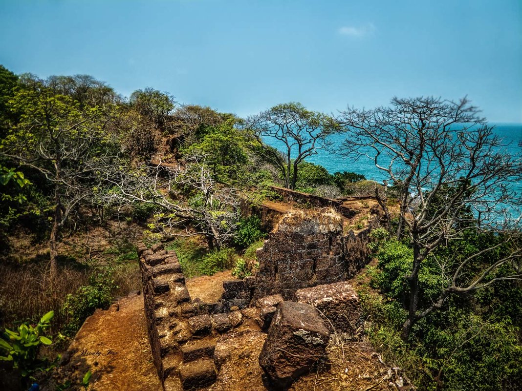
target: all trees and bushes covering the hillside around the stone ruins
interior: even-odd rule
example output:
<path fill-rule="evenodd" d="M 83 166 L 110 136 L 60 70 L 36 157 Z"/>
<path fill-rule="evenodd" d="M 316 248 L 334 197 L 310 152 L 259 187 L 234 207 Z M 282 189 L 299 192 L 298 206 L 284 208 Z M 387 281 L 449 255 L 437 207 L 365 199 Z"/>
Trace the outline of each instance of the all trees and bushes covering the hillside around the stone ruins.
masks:
<path fill-rule="evenodd" d="M 520 389 L 520 221 L 494 213 L 516 204 L 508 184 L 522 170 L 477 113 L 430 98 L 239 118 L 151 88 L 127 99 L 90 76 L 0 66 L 0 379 L 41 380 L 87 316 L 139 290 L 138 241 L 168 242 L 187 277 L 255 273 L 266 232 L 241 211 L 277 200 L 276 185 L 376 197 L 387 219 L 358 277 L 364 332 L 418 389 Z M 388 186 L 306 161 L 321 148 L 370 155 Z M 49 311 L 31 355 L 13 353 L 23 325 Z"/>

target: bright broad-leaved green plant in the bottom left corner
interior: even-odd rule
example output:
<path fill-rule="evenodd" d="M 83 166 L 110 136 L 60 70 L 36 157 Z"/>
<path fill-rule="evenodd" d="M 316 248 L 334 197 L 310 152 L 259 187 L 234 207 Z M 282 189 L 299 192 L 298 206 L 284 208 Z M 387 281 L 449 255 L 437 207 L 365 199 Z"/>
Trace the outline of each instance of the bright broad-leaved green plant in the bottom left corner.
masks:
<path fill-rule="evenodd" d="M 20 370 L 23 377 L 34 379 L 34 374 L 48 372 L 56 366 L 60 360 L 57 357 L 54 361 L 48 358 L 39 358 L 38 353 L 41 345 L 51 345 L 53 343 L 50 336 L 46 336 L 46 329 L 51 326 L 51 319 L 54 312 L 50 311 L 43 315 L 36 326 L 23 323 L 18 326 L 17 331 L 5 329 L 4 338 L 0 338 L 0 352 L 5 356 L 0 356 L 0 361 L 13 362 L 13 368 Z"/>

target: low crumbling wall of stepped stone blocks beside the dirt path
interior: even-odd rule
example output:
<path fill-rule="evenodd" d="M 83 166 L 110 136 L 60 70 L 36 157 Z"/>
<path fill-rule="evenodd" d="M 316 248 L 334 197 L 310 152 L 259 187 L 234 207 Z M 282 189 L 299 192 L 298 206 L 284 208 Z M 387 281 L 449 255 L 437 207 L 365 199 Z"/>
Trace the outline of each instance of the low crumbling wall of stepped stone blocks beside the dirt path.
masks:
<path fill-rule="evenodd" d="M 216 337 L 243 322 L 252 289 L 244 280 L 224 281 L 215 303 L 191 299 L 174 251 L 161 244 L 138 247 L 152 358 L 165 391 L 198 388 L 215 381 Z"/>

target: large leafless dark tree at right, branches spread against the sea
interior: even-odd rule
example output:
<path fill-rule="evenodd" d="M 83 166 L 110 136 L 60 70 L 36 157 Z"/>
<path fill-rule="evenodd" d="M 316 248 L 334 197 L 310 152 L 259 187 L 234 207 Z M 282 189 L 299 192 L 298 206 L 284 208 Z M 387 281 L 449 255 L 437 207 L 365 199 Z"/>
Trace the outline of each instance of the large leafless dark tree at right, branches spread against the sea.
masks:
<path fill-rule="evenodd" d="M 520 217 L 509 216 L 519 214 L 520 199 L 512 185 L 522 177 L 521 159 L 505 152 L 502 140 L 478 114 L 467 99 L 420 97 L 394 98 L 390 107 L 373 110 L 348 108 L 338 118 L 348 136 L 343 153 L 370 158 L 399 189 L 397 237 L 408 238 L 413 247 L 404 339 L 413 324 L 441 308 L 449 295 L 522 277 Z M 502 240 L 461 260 L 438 299 L 419 309 L 423 261 L 470 227 L 493 231 Z M 511 248 L 508 254 L 469 275 L 473 259 L 506 245 Z M 512 265 L 512 274 L 492 274 L 507 263 Z"/>

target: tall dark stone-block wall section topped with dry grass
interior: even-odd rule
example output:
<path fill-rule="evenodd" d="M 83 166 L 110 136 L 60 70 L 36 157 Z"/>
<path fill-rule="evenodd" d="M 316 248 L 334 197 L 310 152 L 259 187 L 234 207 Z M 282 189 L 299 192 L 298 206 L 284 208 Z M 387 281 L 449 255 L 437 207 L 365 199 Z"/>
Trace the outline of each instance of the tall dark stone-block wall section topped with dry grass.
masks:
<path fill-rule="evenodd" d="M 257 250 L 257 261 L 254 298 L 292 300 L 297 289 L 345 279 L 341 216 L 331 209 L 287 214 Z"/>

